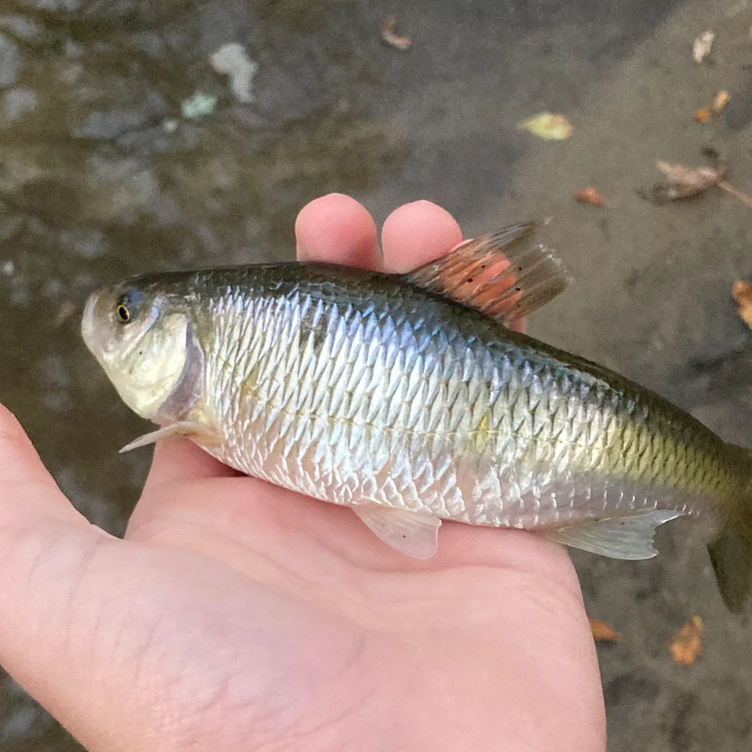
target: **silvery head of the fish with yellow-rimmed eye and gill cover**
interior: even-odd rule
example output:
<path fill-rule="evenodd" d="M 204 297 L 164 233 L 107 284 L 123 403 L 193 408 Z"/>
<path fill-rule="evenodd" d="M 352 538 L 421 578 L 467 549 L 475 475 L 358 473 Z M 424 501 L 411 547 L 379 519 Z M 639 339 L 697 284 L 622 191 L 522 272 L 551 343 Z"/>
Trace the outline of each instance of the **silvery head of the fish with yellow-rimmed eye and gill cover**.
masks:
<path fill-rule="evenodd" d="M 200 389 L 200 348 L 185 306 L 138 280 L 92 293 L 81 320 L 86 347 L 136 414 L 155 423 L 185 414 Z"/>

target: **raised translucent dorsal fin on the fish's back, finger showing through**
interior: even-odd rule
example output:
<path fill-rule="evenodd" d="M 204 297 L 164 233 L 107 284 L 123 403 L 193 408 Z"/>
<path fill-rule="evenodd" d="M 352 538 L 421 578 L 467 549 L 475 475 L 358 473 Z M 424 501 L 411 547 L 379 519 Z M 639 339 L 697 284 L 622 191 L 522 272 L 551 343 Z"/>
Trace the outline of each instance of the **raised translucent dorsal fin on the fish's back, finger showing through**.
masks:
<path fill-rule="evenodd" d="M 481 235 L 402 278 L 509 326 L 570 282 L 553 251 L 532 242 L 537 227 L 538 223 L 524 222 Z"/>

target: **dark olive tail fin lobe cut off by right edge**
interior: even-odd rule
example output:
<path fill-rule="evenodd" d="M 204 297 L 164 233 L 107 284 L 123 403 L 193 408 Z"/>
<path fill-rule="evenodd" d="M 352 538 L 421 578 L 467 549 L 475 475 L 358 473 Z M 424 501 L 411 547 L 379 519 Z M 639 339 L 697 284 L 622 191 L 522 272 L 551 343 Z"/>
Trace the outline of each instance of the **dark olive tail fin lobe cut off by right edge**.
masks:
<path fill-rule="evenodd" d="M 708 545 L 723 602 L 732 614 L 741 614 L 752 593 L 752 491 L 726 520 L 718 538 Z"/>

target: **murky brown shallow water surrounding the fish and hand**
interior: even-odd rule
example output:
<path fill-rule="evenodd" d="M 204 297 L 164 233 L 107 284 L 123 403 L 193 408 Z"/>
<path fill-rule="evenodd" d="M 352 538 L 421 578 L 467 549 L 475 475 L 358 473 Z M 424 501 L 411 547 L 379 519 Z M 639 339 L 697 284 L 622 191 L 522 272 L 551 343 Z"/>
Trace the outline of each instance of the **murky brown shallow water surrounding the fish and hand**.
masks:
<path fill-rule="evenodd" d="M 656 208 L 635 187 L 654 159 L 698 162 L 710 141 L 752 189 L 752 8 L 422 5 L 0 0 L 0 400 L 89 520 L 123 532 L 149 453 L 117 454 L 144 425 L 80 341 L 88 293 L 140 271 L 292 258 L 297 211 L 329 191 L 378 220 L 432 199 L 469 232 L 553 214 L 580 287 L 532 331 L 744 442 L 750 337 L 727 291 L 752 276 L 750 210 L 725 196 Z M 407 52 L 379 40 L 390 12 Z M 700 69 L 689 50 L 705 28 L 719 39 Z M 209 64 L 230 43 L 258 66 L 240 96 Z M 699 130 L 691 113 L 720 88 L 732 105 Z M 544 109 L 569 115 L 571 142 L 514 128 Z M 572 200 L 592 183 L 604 211 Z M 662 752 L 748 746 L 746 623 L 720 607 L 704 551 L 665 538 L 665 556 L 636 566 L 576 557 L 590 613 L 625 635 L 601 654 L 610 748 L 635 734 Z M 706 656 L 677 675 L 665 643 L 693 613 L 711 625 Z M 78 747 L 5 678 L 0 748 Z"/>

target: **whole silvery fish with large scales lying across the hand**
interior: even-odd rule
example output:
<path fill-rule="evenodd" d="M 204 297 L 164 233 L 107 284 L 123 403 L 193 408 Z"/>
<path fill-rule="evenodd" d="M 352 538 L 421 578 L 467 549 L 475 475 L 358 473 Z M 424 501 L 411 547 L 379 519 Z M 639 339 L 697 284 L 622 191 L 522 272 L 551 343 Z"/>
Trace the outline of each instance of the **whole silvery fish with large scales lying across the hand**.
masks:
<path fill-rule="evenodd" d="M 752 456 L 628 378 L 511 325 L 572 281 L 539 223 L 407 274 L 280 262 L 92 293 L 86 346 L 132 411 L 237 471 L 351 508 L 417 559 L 442 521 L 616 559 L 706 520 L 730 611 L 752 590 Z"/>

